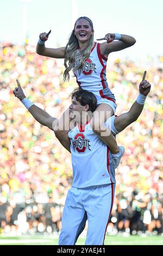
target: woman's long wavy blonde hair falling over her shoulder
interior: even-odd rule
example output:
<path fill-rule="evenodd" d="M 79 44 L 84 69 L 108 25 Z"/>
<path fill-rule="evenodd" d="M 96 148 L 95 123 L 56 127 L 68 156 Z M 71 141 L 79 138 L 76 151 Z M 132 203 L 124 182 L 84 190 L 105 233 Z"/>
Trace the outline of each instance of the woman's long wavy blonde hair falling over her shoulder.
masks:
<path fill-rule="evenodd" d="M 92 30 L 92 32 L 94 32 L 92 21 L 88 17 L 85 17 L 85 16 L 79 17 L 77 19 L 76 23 L 74 24 L 74 29 L 76 27 L 77 22 L 80 19 L 85 19 L 85 20 L 89 21 L 91 30 Z M 74 29 L 70 34 L 70 37 L 68 39 L 66 49 L 65 49 L 66 56 L 65 56 L 64 65 L 65 65 L 66 69 L 64 71 L 64 81 L 70 79 L 70 75 L 69 75 L 70 70 L 73 70 L 73 72 L 74 72 L 77 69 L 82 68 L 82 66 L 84 65 L 84 60 L 90 56 L 91 49 L 94 45 L 94 37 L 92 34 L 90 36 L 90 40 L 89 40 L 89 43 L 87 44 L 86 48 L 84 50 L 78 51 L 79 42 L 78 42 L 78 39 L 76 38 L 76 35 L 74 35 Z M 68 65 L 67 65 L 67 62 L 68 62 Z"/>

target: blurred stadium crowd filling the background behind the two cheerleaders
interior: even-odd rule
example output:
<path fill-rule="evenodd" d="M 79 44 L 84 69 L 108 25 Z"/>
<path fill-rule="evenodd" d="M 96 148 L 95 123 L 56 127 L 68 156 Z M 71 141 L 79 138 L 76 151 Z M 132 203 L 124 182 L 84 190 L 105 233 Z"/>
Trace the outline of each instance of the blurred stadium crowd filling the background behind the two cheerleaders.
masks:
<path fill-rule="evenodd" d="M 28 99 L 60 117 L 77 86 L 74 77 L 62 81 L 63 63 L 39 56 L 34 46 L 0 44 L 0 233 L 60 231 L 72 183 L 71 155 L 51 130 L 34 120 L 12 90 L 18 78 Z M 136 123 L 117 136 L 126 151 L 116 169 L 108 233 L 163 232 L 163 57 L 154 63 L 149 58 L 144 67 L 130 60 L 108 60 L 107 77 L 120 114 L 135 101 L 144 70 L 152 84 L 145 108 Z"/>

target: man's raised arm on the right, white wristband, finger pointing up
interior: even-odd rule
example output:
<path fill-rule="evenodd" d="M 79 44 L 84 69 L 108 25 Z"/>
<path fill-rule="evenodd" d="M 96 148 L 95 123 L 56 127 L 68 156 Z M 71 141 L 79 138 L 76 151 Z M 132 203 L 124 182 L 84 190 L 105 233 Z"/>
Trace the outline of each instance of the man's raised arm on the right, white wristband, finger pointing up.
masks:
<path fill-rule="evenodd" d="M 145 80 L 145 77 L 146 71 L 144 72 L 142 82 L 139 85 L 140 94 L 131 106 L 129 112 L 119 115 L 114 120 L 114 126 L 118 132 L 123 131 L 128 125 L 136 121 L 142 112 L 146 96 L 151 90 L 151 84 L 147 80 Z"/>

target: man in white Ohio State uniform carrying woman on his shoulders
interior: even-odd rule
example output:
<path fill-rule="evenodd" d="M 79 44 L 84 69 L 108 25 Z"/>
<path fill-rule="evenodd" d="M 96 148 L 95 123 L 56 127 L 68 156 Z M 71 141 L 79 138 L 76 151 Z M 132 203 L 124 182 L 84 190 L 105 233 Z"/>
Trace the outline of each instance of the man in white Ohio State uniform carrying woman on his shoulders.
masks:
<path fill-rule="evenodd" d="M 17 81 L 13 91 L 24 106 L 40 124 L 53 130 L 56 118 L 27 100 Z M 121 132 L 133 123 L 142 112 L 151 84 L 145 80 L 140 83 L 140 94 L 129 112 L 106 122 L 114 134 Z M 93 133 L 90 121 L 96 108 L 96 97 L 91 92 L 77 88 L 72 93 L 70 117 L 76 115 L 77 125 L 60 141 L 71 152 L 73 183 L 67 193 L 62 214 L 62 228 L 59 245 L 75 245 L 88 221 L 85 245 L 103 245 L 106 228 L 114 203 L 115 168 L 109 148 Z M 115 145 L 116 147 L 116 145 Z"/>

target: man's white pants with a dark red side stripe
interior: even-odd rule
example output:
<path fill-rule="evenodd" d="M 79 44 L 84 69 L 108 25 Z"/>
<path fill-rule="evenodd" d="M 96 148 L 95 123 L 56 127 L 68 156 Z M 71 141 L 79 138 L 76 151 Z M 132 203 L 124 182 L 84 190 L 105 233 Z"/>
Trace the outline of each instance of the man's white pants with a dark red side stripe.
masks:
<path fill-rule="evenodd" d="M 103 245 L 114 203 L 115 184 L 72 187 L 62 214 L 59 245 L 75 245 L 88 220 L 85 245 Z"/>

